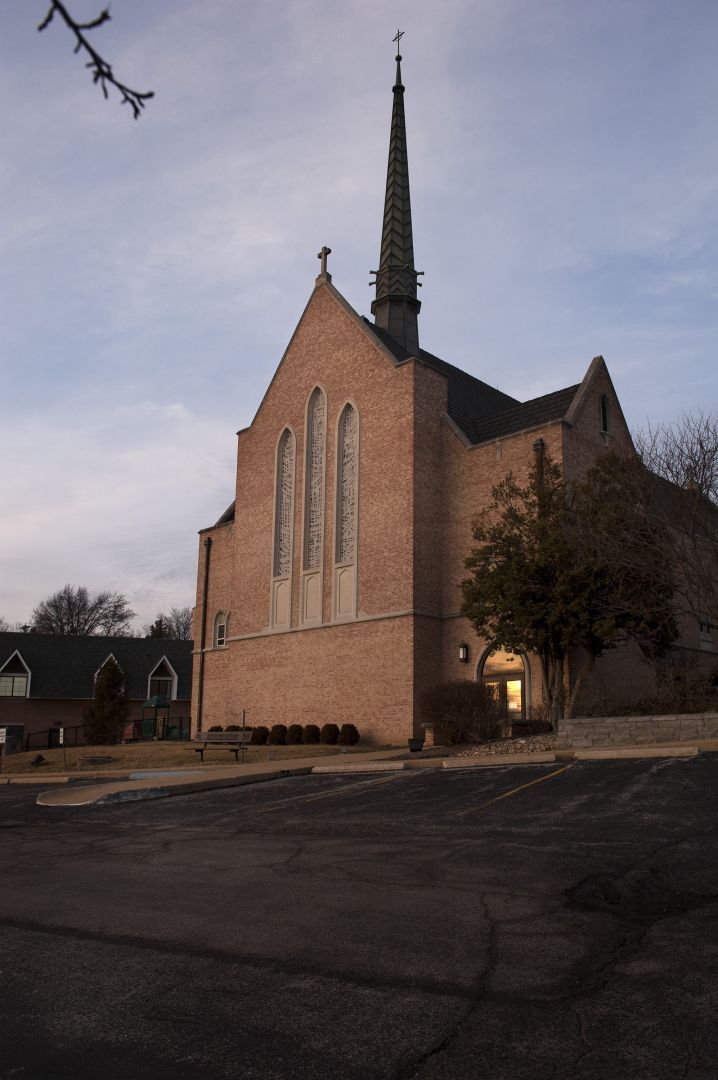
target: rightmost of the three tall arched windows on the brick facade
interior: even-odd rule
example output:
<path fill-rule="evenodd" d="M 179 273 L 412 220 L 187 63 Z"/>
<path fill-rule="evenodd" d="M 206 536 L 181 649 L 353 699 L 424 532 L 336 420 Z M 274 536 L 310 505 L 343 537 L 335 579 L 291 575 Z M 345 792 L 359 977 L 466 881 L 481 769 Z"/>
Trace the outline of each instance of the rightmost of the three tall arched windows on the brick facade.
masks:
<path fill-rule="evenodd" d="M 337 503 L 335 528 L 335 618 L 356 615 L 358 500 L 358 414 L 344 405 L 337 429 Z"/>

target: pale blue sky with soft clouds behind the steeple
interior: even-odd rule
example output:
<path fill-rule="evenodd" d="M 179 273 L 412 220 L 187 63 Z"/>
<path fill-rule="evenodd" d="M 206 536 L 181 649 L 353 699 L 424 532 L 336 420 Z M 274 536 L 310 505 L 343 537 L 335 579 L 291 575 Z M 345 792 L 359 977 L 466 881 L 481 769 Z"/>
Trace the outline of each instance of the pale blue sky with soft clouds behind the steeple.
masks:
<path fill-rule="evenodd" d="M 9 621 L 193 603 L 322 244 L 369 312 L 396 26 L 423 347 L 521 400 L 602 353 L 632 427 L 718 404 L 715 2 L 116 0 L 138 121 L 45 10 L 0 4 Z"/>

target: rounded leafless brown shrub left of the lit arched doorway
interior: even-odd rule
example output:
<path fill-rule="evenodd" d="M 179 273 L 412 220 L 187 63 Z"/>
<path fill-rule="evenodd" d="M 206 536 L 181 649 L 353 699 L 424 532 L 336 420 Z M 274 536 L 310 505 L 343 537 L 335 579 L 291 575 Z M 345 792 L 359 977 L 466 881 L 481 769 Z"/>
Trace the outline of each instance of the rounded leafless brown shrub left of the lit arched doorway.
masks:
<path fill-rule="evenodd" d="M 421 694 L 421 707 L 439 746 L 500 739 L 506 728 L 489 687 L 471 679 L 428 687 Z"/>

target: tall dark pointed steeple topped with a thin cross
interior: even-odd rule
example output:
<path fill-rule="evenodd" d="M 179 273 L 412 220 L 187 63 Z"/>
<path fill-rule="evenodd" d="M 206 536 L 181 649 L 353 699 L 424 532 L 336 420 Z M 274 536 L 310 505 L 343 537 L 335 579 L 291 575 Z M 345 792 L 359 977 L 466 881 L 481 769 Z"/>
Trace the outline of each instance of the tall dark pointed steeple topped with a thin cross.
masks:
<path fill-rule="evenodd" d="M 409 162 L 406 152 L 406 123 L 404 120 L 404 86 L 402 85 L 402 56 L 398 52 L 401 30 L 396 31 L 396 82 L 394 108 L 389 139 L 389 166 L 387 168 L 387 197 L 381 232 L 379 269 L 372 270 L 377 280 L 376 299 L 371 314 L 377 326 L 385 329 L 395 341 L 412 355 L 419 355 L 419 326 L 417 315 L 421 302 L 417 299 L 418 272 L 414 268 L 414 241 L 411 238 L 411 202 L 409 199 Z"/>

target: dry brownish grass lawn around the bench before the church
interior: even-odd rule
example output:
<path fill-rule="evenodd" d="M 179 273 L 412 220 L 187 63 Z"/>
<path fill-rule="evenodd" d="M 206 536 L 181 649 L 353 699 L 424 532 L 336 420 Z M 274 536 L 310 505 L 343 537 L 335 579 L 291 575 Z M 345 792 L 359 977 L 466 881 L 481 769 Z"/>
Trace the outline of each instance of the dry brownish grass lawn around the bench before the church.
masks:
<path fill-rule="evenodd" d="M 120 770 L 134 772 L 137 769 L 177 769 L 200 768 L 200 755 L 194 753 L 193 743 L 187 742 L 146 742 L 126 743 L 122 746 L 67 746 L 63 750 L 30 751 L 27 754 L 12 754 L 3 758 L 2 774 L 37 773 L 38 778 L 51 772 L 107 772 Z M 357 750 L 379 750 L 372 746 L 325 746 L 321 743 L 310 746 L 247 746 L 244 760 L 282 761 L 287 758 L 319 757 L 325 754 L 355 753 Z M 30 762 L 38 754 L 44 757 L 44 764 L 33 768 Z M 96 760 L 96 759 L 104 760 Z M 109 758 L 109 760 L 106 760 Z M 93 760 L 95 759 L 95 760 Z M 242 754 L 240 752 L 240 760 Z M 204 754 L 202 769 L 212 766 L 234 765 L 234 755 L 227 750 L 207 750 Z"/>

